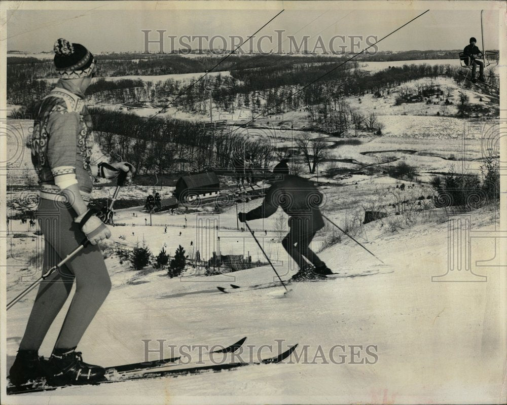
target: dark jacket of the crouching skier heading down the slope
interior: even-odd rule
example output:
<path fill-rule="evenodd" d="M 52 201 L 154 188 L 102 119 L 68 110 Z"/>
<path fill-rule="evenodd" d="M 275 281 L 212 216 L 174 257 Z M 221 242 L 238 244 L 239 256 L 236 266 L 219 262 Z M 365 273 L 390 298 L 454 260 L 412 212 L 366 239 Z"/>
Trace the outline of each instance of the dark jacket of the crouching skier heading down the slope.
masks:
<path fill-rule="evenodd" d="M 284 174 L 281 180 L 274 181 L 268 189 L 262 205 L 246 213 L 246 220 L 267 218 L 280 206 L 290 217 L 289 226 L 293 226 L 297 218 L 308 218 L 312 224 L 311 231 L 315 232 L 324 226 L 318 208 L 321 202 L 322 194 L 310 181 Z"/>

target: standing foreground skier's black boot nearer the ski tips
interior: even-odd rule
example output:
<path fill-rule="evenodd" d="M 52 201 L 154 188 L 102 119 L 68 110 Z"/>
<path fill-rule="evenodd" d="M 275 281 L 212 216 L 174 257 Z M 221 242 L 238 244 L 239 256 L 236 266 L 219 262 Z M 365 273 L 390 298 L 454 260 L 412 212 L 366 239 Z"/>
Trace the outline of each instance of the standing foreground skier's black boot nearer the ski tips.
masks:
<path fill-rule="evenodd" d="M 48 362 L 48 384 L 93 384 L 105 380 L 104 367 L 85 363 L 81 352 L 75 349 L 55 349 Z"/>

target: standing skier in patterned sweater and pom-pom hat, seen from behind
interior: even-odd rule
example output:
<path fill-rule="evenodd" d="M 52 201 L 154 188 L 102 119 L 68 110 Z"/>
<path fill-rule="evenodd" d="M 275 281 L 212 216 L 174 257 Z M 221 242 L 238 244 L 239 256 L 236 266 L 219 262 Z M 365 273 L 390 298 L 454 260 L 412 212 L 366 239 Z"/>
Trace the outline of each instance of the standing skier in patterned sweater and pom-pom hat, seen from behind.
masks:
<path fill-rule="evenodd" d="M 97 243 L 110 230 L 88 209 L 93 178 L 115 178 L 133 168 L 126 162 L 91 164 L 92 121 L 84 92 L 95 72 L 95 58 L 84 46 L 59 39 L 54 63 L 60 80 L 41 102 L 28 142 L 41 185 L 37 210 L 44 235 L 44 268 L 50 268 L 88 239 L 88 244 L 59 271 L 41 283 L 18 354 L 10 369 L 15 385 L 46 377 L 51 385 L 80 384 L 103 379 L 105 370 L 85 363 L 76 347 L 105 300 L 111 280 Z M 86 238 L 86 239 L 85 239 Z M 76 279 L 70 303 L 49 360 L 39 348 Z"/>

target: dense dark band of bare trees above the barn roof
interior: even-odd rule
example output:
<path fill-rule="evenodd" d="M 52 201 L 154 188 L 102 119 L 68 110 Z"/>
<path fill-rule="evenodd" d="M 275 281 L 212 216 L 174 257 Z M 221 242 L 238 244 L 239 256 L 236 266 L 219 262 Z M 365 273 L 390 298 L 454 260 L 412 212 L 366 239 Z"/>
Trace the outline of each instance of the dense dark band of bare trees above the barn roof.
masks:
<path fill-rule="evenodd" d="M 173 118 L 146 120 L 131 113 L 90 110 L 96 142 L 107 153 L 132 162 L 140 174 L 233 170 L 234 157 L 252 157 L 259 168 L 271 165 L 273 145 L 248 139 L 230 129 L 212 133 L 197 122 Z"/>

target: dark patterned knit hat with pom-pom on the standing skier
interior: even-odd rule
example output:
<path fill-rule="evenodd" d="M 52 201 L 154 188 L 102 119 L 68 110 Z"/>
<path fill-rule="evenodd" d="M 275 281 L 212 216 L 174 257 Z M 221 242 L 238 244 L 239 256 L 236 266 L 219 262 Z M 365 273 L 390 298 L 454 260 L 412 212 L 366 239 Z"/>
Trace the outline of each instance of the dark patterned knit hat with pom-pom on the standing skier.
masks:
<path fill-rule="evenodd" d="M 80 79 L 91 75 L 95 58 L 81 44 L 71 44 L 60 38 L 53 46 L 55 67 L 62 79 Z"/>

